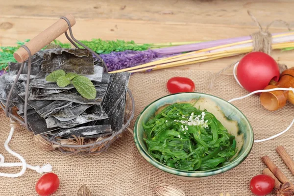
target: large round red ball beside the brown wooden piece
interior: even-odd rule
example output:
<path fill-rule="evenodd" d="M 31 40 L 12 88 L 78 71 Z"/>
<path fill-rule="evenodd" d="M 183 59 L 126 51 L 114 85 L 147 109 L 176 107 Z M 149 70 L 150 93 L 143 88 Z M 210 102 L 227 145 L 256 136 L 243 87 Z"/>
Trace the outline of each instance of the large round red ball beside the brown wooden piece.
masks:
<path fill-rule="evenodd" d="M 270 80 L 278 81 L 279 67 L 275 60 L 264 52 L 250 52 L 239 62 L 237 78 L 249 92 L 263 90 Z"/>

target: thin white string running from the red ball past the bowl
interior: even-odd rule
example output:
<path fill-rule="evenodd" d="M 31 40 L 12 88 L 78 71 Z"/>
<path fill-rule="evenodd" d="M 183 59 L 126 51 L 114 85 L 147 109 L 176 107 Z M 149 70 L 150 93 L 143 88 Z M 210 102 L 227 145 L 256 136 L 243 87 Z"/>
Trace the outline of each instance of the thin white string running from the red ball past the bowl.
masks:
<path fill-rule="evenodd" d="M 237 75 L 236 75 L 236 68 L 237 66 L 239 65 L 239 62 L 235 64 L 234 66 L 234 70 L 233 70 L 233 74 L 234 74 L 234 77 L 235 77 L 235 80 L 238 82 L 238 84 L 243 88 L 243 86 L 240 84 L 238 78 L 237 78 Z M 228 102 L 232 102 L 232 101 L 236 101 L 236 100 L 240 100 L 240 99 L 243 99 L 243 98 L 247 98 L 251 95 L 254 95 L 256 93 L 263 93 L 263 92 L 271 92 L 271 91 L 292 91 L 294 93 L 294 89 L 293 88 L 274 88 L 274 89 L 267 89 L 267 90 L 258 90 L 258 91 L 253 91 L 243 97 L 240 97 L 240 98 L 232 98 L 231 100 L 229 100 Z M 270 136 L 269 138 L 265 138 L 265 139 L 261 139 L 261 140 L 254 140 L 254 143 L 258 143 L 258 142 L 265 142 L 265 141 L 268 141 L 268 140 L 271 140 L 273 138 L 276 138 L 284 133 L 286 133 L 291 127 L 292 125 L 294 124 L 294 119 L 292 121 L 292 123 L 282 132 L 276 134 L 276 135 L 273 135 L 273 136 Z"/>

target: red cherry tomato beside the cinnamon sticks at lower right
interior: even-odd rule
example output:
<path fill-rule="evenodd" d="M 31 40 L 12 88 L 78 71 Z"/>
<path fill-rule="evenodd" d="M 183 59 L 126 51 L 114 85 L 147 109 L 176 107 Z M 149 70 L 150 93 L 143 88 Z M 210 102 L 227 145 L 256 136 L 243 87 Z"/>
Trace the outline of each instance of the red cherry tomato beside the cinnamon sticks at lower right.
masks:
<path fill-rule="evenodd" d="M 273 190 L 273 188 L 274 179 L 268 175 L 256 175 L 250 181 L 250 190 L 257 196 L 268 195 Z"/>

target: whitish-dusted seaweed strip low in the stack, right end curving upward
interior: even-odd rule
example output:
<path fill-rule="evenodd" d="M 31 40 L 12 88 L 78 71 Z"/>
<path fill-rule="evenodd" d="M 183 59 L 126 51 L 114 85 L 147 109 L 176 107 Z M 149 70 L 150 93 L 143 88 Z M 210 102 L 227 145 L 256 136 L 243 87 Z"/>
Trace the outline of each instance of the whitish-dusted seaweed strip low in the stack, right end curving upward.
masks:
<path fill-rule="evenodd" d="M 70 121 L 59 121 L 54 117 L 49 117 L 46 119 L 47 127 L 62 127 L 62 128 L 72 128 L 79 124 L 84 124 L 92 121 L 97 121 L 101 119 L 108 118 L 101 105 L 93 105 L 88 108 L 82 115 L 76 117 Z"/>

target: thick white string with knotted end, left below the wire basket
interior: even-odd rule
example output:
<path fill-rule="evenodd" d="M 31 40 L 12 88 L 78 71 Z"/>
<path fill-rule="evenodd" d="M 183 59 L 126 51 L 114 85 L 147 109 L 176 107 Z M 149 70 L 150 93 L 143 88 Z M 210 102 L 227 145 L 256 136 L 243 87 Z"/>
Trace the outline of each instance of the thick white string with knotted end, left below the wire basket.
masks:
<path fill-rule="evenodd" d="M 8 135 L 7 140 L 4 143 L 4 147 L 13 156 L 17 157 L 18 159 L 21 160 L 21 163 L 4 163 L 4 156 L 0 154 L 0 167 L 22 167 L 22 170 L 18 173 L 0 173 L 1 177 L 20 177 L 25 173 L 26 168 L 34 170 L 40 174 L 44 172 L 51 172 L 52 171 L 52 166 L 50 164 L 44 165 L 42 168 L 40 166 L 31 166 L 26 164 L 25 159 L 18 153 L 14 152 L 8 147 L 8 144 L 10 140 L 12 139 L 14 133 L 14 127 L 11 127 L 10 133 Z"/>

